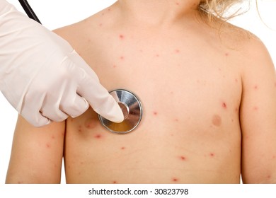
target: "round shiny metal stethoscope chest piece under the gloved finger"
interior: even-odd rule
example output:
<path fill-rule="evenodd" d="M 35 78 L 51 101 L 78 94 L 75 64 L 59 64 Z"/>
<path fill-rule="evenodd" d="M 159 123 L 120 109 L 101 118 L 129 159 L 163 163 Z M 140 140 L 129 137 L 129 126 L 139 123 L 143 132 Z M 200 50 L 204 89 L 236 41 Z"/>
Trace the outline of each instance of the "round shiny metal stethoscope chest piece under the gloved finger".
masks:
<path fill-rule="evenodd" d="M 111 91 L 110 95 L 115 98 L 124 114 L 124 121 L 120 123 L 111 122 L 102 116 L 98 116 L 100 123 L 110 132 L 127 134 L 132 132 L 142 120 L 142 104 L 134 93 L 124 89 Z"/>

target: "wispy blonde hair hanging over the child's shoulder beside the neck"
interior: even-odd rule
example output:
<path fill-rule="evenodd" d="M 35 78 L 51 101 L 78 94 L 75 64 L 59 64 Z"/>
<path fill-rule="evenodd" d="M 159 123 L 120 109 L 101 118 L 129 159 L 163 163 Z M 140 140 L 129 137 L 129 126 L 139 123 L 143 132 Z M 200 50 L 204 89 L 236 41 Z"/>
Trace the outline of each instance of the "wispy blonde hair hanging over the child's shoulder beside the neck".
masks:
<path fill-rule="evenodd" d="M 200 10 L 207 14 L 209 21 L 212 21 L 214 17 L 227 21 L 229 18 L 241 14 L 239 13 L 239 9 L 233 10 L 233 13 L 226 14 L 226 12 L 229 8 L 242 1 L 243 0 L 201 0 Z"/>

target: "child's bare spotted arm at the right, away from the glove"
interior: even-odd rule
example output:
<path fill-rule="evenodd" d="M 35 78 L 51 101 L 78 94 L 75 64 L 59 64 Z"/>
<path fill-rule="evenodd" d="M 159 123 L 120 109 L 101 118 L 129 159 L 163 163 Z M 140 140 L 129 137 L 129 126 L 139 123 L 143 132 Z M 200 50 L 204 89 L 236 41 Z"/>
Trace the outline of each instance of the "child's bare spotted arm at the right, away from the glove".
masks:
<path fill-rule="evenodd" d="M 270 56 L 253 38 L 244 52 L 242 178 L 244 183 L 276 183 L 276 74 Z"/>

